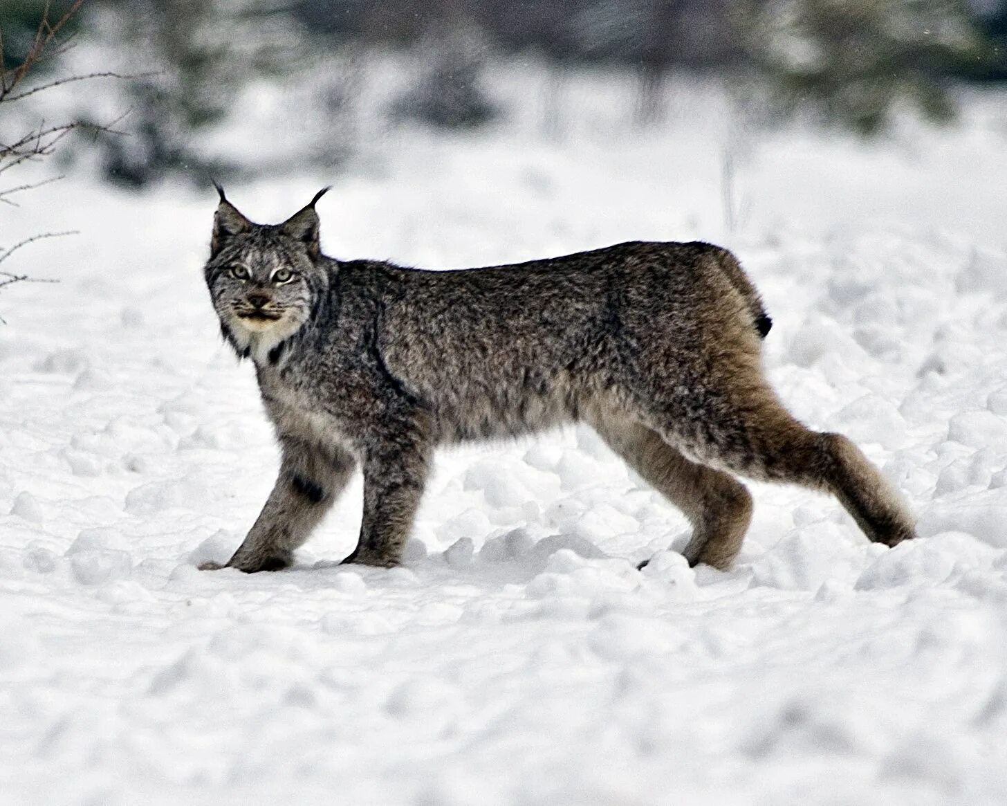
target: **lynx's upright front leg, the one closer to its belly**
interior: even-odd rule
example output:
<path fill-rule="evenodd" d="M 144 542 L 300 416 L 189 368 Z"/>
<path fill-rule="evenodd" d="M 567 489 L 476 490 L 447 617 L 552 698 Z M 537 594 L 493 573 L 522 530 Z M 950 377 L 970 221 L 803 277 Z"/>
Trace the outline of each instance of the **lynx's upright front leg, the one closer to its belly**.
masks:
<path fill-rule="evenodd" d="M 419 507 L 431 446 L 400 437 L 369 451 L 364 461 L 364 520 L 361 537 L 343 562 L 392 567 L 399 564 Z"/>

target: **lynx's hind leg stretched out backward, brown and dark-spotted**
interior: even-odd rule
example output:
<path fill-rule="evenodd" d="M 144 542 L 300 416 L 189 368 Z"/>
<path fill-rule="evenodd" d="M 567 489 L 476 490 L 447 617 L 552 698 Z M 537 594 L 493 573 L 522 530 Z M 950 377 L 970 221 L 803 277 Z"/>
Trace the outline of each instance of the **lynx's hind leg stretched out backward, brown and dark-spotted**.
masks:
<path fill-rule="evenodd" d="M 894 546 L 915 536 L 902 500 L 853 442 L 798 422 L 760 377 L 741 388 L 718 394 L 713 405 L 701 402 L 698 410 L 709 412 L 702 418 L 664 417 L 656 427 L 704 463 L 831 493 L 874 542 Z M 691 408 L 697 411 L 695 401 Z"/>

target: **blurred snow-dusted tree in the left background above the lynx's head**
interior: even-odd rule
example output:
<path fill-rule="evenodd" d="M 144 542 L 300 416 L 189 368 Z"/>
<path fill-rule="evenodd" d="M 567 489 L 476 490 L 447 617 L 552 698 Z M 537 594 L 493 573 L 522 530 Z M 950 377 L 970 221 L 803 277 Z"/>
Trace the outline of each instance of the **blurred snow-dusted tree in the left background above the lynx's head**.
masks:
<path fill-rule="evenodd" d="M 102 0 L 92 26 L 122 57 L 143 65 L 128 83 L 128 136 L 102 141 L 106 175 L 142 186 L 168 174 L 194 182 L 237 163 L 204 145 L 255 76 L 290 70 L 301 55 L 283 15 L 255 0 Z"/>

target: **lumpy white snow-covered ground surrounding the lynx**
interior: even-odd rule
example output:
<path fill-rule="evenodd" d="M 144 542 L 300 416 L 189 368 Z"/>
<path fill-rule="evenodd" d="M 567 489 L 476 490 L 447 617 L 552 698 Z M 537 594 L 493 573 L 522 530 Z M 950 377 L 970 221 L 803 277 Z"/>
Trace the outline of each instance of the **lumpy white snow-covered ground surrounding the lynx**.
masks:
<path fill-rule="evenodd" d="M 197 571 L 277 465 L 199 271 L 215 195 L 81 171 L 5 209 L 4 243 L 80 235 L 5 266 L 57 284 L 0 294 L 0 800 L 1007 802 L 1003 101 L 863 146 L 683 94 L 660 131 L 397 131 L 346 174 L 228 188 L 279 221 L 333 183 L 337 257 L 734 249 L 782 398 L 884 468 L 920 539 L 753 486 L 726 573 L 688 568 L 682 516 L 581 429 L 442 453 L 401 568 L 336 564 L 357 479 L 293 569 Z"/>

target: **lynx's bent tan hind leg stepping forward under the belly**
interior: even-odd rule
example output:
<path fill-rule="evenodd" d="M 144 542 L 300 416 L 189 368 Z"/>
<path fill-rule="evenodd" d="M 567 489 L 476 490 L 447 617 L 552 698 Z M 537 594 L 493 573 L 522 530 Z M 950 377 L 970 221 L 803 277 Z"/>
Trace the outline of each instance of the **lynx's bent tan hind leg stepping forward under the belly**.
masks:
<path fill-rule="evenodd" d="M 689 519 L 693 534 L 682 552 L 689 564 L 729 567 L 751 522 L 752 498 L 744 485 L 726 473 L 690 461 L 638 422 L 610 418 L 595 428 L 612 450 Z"/>

